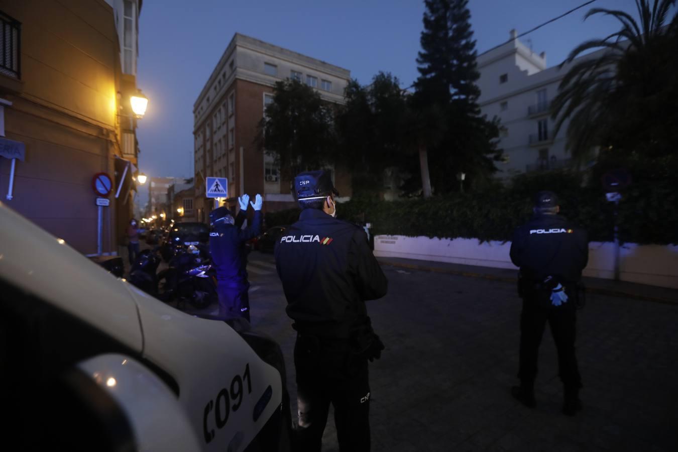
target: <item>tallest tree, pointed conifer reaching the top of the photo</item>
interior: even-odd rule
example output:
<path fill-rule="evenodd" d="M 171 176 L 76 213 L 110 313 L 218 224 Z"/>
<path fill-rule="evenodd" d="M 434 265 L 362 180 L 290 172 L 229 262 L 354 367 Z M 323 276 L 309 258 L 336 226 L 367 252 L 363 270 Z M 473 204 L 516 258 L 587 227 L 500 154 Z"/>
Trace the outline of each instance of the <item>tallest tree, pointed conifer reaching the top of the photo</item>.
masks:
<path fill-rule="evenodd" d="M 467 174 L 471 183 L 487 180 L 500 157 L 496 150 L 498 121 L 481 116 L 475 41 L 468 0 L 425 0 L 422 51 L 417 58 L 412 108 L 419 121 L 418 150 L 424 197 L 428 163 L 431 181 L 440 192 L 456 190 L 454 175 Z M 427 156 L 428 155 L 428 156 Z"/>

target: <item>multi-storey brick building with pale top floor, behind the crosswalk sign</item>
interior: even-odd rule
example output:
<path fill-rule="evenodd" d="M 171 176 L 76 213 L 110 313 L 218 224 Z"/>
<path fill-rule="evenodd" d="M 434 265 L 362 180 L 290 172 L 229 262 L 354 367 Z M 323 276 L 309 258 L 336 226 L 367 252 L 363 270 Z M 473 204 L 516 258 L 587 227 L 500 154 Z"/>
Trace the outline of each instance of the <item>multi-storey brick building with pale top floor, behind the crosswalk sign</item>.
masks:
<path fill-rule="evenodd" d="M 235 209 L 243 193 L 264 197 L 264 211 L 295 205 L 291 182 L 282 180 L 274 159 L 256 144 L 273 84 L 296 78 L 327 102 L 344 102 L 350 71 L 277 45 L 236 33 L 193 106 L 195 206 L 199 221 L 214 207 L 205 198 L 205 177 L 228 178 L 226 204 Z M 332 168 L 330 168 L 332 169 Z M 333 171 L 342 197 L 350 197 L 347 173 Z"/>

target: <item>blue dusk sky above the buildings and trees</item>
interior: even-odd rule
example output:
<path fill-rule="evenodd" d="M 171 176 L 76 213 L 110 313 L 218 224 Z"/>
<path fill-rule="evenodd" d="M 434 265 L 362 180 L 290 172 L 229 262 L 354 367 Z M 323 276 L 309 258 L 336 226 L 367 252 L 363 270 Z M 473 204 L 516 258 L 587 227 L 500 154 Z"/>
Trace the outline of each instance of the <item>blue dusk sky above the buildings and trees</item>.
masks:
<path fill-rule="evenodd" d="M 559 16 L 584 0 L 471 0 L 471 26 L 482 53 Z M 559 64 L 586 39 L 618 30 L 592 7 L 623 9 L 637 16 L 633 0 L 597 0 L 521 38 Z M 146 0 L 139 21 L 137 85 L 148 96 L 139 123 L 140 171 L 148 176 L 193 177 L 193 103 L 234 33 L 324 60 L 370 83 L 380 70 L 407 87 L 416 70 L 424 2 L 420 0 Z M 530 42 L 531 41 L 531 42 Z M 142 189 L 142 201 L 146 199 Z"/>

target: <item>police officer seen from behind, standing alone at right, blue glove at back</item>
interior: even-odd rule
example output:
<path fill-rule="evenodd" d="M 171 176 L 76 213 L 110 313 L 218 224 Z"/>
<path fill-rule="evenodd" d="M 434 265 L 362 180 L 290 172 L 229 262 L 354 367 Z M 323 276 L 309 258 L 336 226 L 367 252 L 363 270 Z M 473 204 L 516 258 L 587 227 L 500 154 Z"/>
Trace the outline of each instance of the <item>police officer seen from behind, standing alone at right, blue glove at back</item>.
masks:
<path fill-rule="evenodd" d="M 559 375 L 565 398 L 563 413 L 574 415 L 582 406 L 581 377 L 574 354 L 577 284 L 589 260 L 586 231 L 561 215 L 553 192 L 539 192 L 534 218 L 515 230 L 511 260 L 520 268 L 519 295 L 523 298 L 520 321 L 520 386 L 513 396 L 535 407 L 534 379 L 537 355 L 546 321 L 558 351 Z"/>

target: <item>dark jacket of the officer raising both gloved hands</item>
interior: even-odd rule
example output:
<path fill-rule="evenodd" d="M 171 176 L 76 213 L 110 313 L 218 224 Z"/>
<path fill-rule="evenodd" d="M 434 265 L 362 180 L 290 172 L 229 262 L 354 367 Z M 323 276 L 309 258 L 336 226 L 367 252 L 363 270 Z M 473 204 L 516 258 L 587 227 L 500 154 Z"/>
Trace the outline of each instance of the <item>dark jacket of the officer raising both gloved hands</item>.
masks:
<path fill-rule="evenodd" d="M 210 232 L 210 253 L 219 281 L 229 281 L 233 287 L 247 286 L 247 250 L 245 242 L 261 233 L 261 211 L 254 211 L 252 224 L 245 229 L 247 215 L 239 211 L 235 224 L 220 224 Z"/>

